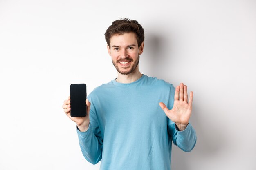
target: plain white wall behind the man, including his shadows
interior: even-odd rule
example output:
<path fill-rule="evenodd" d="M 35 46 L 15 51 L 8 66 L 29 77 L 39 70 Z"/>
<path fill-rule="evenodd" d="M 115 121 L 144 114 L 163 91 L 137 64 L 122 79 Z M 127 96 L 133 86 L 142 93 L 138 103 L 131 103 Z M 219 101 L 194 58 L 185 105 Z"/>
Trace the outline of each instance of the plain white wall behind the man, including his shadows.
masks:
<path fill-rule="evenodd" d="M 62 104 L 117 76 L 104 33 L 122 17 L 145 29 L 140 71 L 194 92 L 197 144 L 172 169 L 255 170 L 254 0 L 0 0 L 0 169 L 99 169 Z"/>

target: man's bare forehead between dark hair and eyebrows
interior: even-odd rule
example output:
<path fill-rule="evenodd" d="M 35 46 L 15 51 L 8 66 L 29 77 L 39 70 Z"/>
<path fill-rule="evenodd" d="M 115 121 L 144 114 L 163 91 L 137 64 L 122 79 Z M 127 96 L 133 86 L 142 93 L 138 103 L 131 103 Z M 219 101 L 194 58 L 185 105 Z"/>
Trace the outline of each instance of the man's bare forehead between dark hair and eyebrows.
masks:
<path fill-rule="evenodd" d="M 110 38 L 110 46 L 127 46 L 129 44 L 137 43 L 137 36 L 135 33 L 124 33 L 124 34 L 115 34 Z"/>

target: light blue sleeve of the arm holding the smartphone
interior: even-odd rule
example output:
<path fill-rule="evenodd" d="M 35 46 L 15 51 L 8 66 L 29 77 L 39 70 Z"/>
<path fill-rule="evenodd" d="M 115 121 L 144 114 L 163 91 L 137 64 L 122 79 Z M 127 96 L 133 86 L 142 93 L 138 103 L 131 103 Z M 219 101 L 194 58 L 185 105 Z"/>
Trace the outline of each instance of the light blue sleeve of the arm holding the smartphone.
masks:
<path fill-rule="evenodd" d="M 88 162 L 96 164 L 101 160 L 102 157 L 103 140 L 95 114 L 95 108 L 92 102 L 89 117 L 90 124 L 88 130 L 85 132 L 80 132 L 78 128 L 76 128 L 76 132 L 83 156 Z"/>

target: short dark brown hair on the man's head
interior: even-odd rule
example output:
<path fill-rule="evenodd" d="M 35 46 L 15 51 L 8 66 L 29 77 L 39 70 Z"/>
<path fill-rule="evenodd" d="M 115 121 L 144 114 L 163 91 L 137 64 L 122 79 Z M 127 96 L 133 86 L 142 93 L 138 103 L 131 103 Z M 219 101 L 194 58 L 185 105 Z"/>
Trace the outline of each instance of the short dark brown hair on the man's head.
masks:
<path fill-rule="evenodd" d="M 137 36 L 138 46 L 141 46 L 141 43 L 144 42 L 144 29 L 136 20 L 130 20 L 128 18 L 121 18 L 120 20 L 115 20 L 112 22 L 112 25 L 108 27 L 105 32 L 105 39 L 110 47 L 110 38 L 117 34 L 123 35 L 124 33 L 135 33 Z"/>

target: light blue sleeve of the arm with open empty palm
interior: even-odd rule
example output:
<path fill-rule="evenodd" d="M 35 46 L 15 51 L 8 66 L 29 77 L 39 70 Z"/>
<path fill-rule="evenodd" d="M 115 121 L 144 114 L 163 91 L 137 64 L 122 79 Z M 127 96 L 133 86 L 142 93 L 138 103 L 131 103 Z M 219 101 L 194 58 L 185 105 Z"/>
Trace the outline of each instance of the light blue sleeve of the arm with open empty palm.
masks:
<path fill-rule="evenodd" d="M 175 88 L 171 84 L 170 97 L 168 102 L 168 109 L 173 108 Z M 177 145 L 185 152 L 190 152 L 196 143 L 196 132 L 189 122 L 188 126 L 183 131 L 178 131 L 176 125 L 171 119 L 167 117 L 167 130 L 168 135 L 171 137 L 173 144 Z"/>

